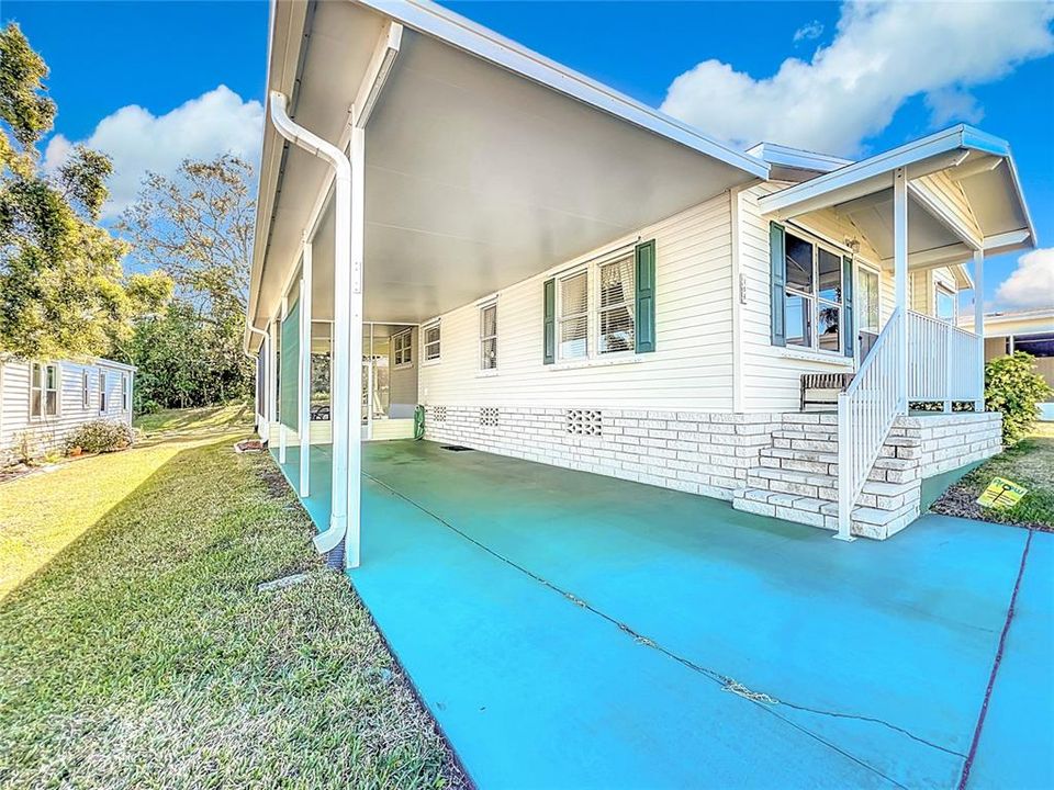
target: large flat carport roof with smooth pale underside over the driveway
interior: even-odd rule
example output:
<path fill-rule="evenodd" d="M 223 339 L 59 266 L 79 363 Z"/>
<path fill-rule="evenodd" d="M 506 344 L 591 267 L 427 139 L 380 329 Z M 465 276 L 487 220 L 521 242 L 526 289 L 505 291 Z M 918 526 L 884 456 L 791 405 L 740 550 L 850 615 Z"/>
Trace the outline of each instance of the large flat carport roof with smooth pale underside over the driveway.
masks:
<path fill-rule="evenodd" d="M 367 319 L 427 319 L 767 177 L 764 161 L 425 0 L 278 2 L 268 93 L 344 147 L 392 22 L 397 56 L 366 139 Z M 274 315 L 304 233 L 325 223 L 330 178 L 267 125 L 250 325 Z M 314 255 L 322 312 L 327 253 Z"/>

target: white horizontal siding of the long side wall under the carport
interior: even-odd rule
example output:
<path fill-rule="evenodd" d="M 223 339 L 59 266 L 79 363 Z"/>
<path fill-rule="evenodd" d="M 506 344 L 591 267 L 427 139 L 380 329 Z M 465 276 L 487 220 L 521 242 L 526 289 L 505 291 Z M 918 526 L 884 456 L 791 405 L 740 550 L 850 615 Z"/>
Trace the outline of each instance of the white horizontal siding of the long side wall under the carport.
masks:
<path fill-rule="evenodd" d="M 502 289 L 501 375 L 480 376 L 479 305 L 442 316 L 442 364 L 421 371 L 422 402 L 430 405 L 603 407 L 730 411 L 731 226 L 728 195 L 719 195 L 655 225 L 613 238 L 570 261 L 552 261 L 537 276 Z M 596 275 L 595 261 L 640 239 L 655 239 L 655 351 L 587 354 L 580 321 L 561 330 L 560 318 L 586 317 L 590 303 L 561 311 L 561 282 L 580 271 Z M 625 256 L 625 252 L 623 252 Z M 557 359 L 543 364 L 542 283 L 557 279 Z M 595 287 L 590 283 L 590 287 Z M 564 296 L 573 291 L 564 289 Z M 588 292 L 586 292 L 588 293 Z M 565 298 L 568 301 L 568 298 Z M 597 323 L 596 311 L 592 313 Z M 583 313 L 585 316 L 583 316 Z M 563 348 L 561 349 L 561 346 Z M 593 345 L 595 348 L 595 343 Z"/>

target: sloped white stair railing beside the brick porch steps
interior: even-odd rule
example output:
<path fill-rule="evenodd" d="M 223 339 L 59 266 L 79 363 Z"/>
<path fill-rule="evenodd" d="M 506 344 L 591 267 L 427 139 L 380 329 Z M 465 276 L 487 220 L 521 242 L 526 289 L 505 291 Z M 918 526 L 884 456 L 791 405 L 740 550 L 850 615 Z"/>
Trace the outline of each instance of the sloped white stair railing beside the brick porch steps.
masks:
<path fill-rule="evenodd" d="M 838 537 L 842 540 L 852 540 L 853 504 L 894 419 L 905 408 L 899 396 L 907 373 L 901 359 L 904 331 L 904 312 L 897 307 L 856 376 L 838 396 Z"/>

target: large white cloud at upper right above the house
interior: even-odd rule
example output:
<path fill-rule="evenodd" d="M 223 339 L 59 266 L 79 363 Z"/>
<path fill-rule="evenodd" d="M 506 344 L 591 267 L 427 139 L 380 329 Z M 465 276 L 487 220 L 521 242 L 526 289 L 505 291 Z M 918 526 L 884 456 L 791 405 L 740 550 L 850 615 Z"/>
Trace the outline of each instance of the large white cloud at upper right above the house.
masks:
<path fill-rule="evenodd" d="M 964 89 L 1054 52 L 1052 20 L 1054 3 L 845 3 L 810 60 L 787 58 L 764 79 L 704 60 L 673 80 L 662 110 L 735 145 L 853 156 L 911 97 L 930 98 L 934 120 L 977 117 Z"/>

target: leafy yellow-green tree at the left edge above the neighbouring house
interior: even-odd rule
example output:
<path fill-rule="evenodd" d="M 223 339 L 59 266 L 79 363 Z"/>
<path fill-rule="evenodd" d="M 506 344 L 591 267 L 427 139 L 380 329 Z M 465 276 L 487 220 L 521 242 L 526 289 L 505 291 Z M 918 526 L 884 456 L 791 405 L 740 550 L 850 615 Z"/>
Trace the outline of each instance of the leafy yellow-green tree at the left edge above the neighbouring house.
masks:
<path fill-rule="evenodd" d="M 0 30 L 0 356 L 99 356 L 143 303 L 125 290 L 126 245 L 97 225 L 109 157 L 78 146 L 42 172 L 56 113 L 47 74 L 16 24 Z"/>

